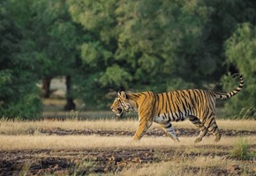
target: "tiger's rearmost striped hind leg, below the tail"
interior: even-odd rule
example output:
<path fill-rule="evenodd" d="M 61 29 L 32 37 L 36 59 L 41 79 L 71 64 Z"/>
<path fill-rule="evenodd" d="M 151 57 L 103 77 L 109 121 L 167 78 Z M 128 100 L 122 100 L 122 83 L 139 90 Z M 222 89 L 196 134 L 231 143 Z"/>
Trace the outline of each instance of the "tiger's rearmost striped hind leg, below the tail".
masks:
<path fill-rule="evenodd" d="M 215 118 L 216 115 L 211 114 L 211 116 L 207 118 L 207 121 L 205 121 L 205 126 L 208 128 L 209 132 L 215 136 L 215 142 L 219 142 L 222 138 L 222 134 L 220 133 Z"/>

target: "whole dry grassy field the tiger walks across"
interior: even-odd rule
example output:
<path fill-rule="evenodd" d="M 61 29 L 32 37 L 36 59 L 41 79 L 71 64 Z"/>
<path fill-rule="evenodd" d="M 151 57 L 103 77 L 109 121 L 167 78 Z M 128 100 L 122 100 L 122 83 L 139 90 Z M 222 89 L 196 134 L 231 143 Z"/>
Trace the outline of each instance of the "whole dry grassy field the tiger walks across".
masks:
<path fill-rule="evenodd" d="M 222 140 L 174 122 L 181 143 L 157 124 L 132 142 L 138 121 L 0 121 L 4 175 L 256 175 L 256 121 L 218 120 Z M 91 135 L 87 135 L 91 132 Z M 238 134 L 238 135 L 237 135 Z"/>

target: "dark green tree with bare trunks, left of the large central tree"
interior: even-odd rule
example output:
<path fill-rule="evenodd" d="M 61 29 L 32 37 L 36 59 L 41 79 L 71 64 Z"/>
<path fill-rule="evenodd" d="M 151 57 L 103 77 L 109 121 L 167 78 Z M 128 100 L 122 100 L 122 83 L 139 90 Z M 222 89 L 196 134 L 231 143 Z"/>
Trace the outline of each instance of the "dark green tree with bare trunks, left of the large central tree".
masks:
<path fill-rule="evenodd" d="M 50 79 L 66 77 L 65 110 L 75 108 L 72 92 L 72 77 L 78 74 L 79 65 L 79 35 L 80 26 L 72 22 L 68 5 L 64 0 L 32 1 L 31 23 L 28 38 L 33 40 L 34 58 L 38 64 L 37 75 L 46 83 L 49 89 Z M 49 91 L 47 91 L 49 96 Z"/>

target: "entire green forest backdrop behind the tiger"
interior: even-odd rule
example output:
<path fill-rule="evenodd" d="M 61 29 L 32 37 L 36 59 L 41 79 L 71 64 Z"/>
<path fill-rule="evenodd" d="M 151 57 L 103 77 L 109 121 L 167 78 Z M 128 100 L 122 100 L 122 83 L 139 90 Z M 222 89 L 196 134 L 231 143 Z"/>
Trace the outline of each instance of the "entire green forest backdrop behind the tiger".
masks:
<path fill-rule="evenodd" d="M 255 48 L 253 0 L 1 0 L 0 117 L 40 117 L 55 77 L 65 110 L 99 110 L 123 89 L 229 92 L 240 72 L 224 112 L 255 118 Z"/>

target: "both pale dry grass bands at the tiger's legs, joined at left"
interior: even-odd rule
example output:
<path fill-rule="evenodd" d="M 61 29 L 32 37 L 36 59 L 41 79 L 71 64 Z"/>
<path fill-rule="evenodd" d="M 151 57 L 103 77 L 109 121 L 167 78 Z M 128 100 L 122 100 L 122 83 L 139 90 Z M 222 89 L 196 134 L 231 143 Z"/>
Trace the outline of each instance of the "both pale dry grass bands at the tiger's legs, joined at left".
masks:
<path fill-rule="evenodd" d="M 220 128 L 255 130 L 256 121 L 218 121 Z M 181 143 L 173 143 L 169 137 L 146 137 L 139 143 L 133 143 L 131 136 L 46 136 L 41 128 L 64 129 L 106 129 L 135 132 L 138 121 L 0 121 L 0 150 L 15 149 L 79 149 L 94 147 L 157 147 L 195 145 L 195 137 L 180 137 Z M 157 124 L 154 125 L 157 127 Z M 154 128 L 153 127 L 153 128 Z M 175 122 L 175 128 L 194 128 L 190 121 Z M 152 129 L 152 128 L 151 128 Z M 33 131 L 33 133 L 31 133 Z M 33 134 L 29 135 L 29 134 Z M 222 137 L 220 143 L 214 143 L 214 137 L 205 137 L 199 145 L 232 145 L 238 137 Z M 249 144 L 256 144 L 256 136 L 246 137 Z"/>

